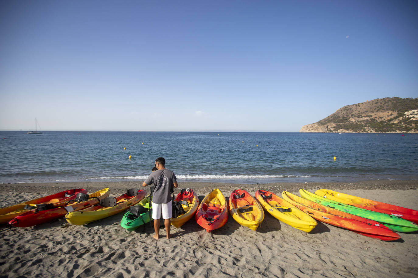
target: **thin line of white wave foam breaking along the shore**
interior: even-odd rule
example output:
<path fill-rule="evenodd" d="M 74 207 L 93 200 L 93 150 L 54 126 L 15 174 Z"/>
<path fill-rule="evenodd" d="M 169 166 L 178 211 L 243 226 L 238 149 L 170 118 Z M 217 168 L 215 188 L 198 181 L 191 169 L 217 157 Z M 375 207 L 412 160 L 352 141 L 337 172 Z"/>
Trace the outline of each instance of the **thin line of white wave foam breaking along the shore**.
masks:
<path fill-rule="evenodd" d="M 310 175 L 176 175 L 181 180 L 214 180 L 214 179 L 258 179 L 258 178 L 310 178 Z M 99 177 L 92 179 L 110 180 L 110 179 L 130 179 L 145 180 L 148 175 L 127 176 L 127 177 Z"/>

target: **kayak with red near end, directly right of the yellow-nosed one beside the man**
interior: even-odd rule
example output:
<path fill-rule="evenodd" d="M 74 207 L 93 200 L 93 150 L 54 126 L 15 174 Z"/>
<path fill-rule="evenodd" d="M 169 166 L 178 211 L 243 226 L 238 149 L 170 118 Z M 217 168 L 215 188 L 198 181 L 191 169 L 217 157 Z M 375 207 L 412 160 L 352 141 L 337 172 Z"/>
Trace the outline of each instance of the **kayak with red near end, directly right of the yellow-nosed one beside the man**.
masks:
<path fill-rule="evenodd" d="M 218 188 L 205 196 L 196 211 L 196 222 L 208 233 L 228 221 L 227 200 Z"/>

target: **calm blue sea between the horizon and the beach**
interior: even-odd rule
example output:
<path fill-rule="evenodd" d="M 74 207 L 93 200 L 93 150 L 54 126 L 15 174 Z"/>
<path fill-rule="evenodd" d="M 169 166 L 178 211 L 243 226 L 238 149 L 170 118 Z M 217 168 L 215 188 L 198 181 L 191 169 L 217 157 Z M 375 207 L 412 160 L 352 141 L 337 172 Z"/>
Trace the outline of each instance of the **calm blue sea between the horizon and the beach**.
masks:
<path fill-rule="evenodd" d="M 0 131 L 0 138 L 0 183 L 140 181 L 159 156 L 180 182 L 418 179 L 415 134 Z"/>

